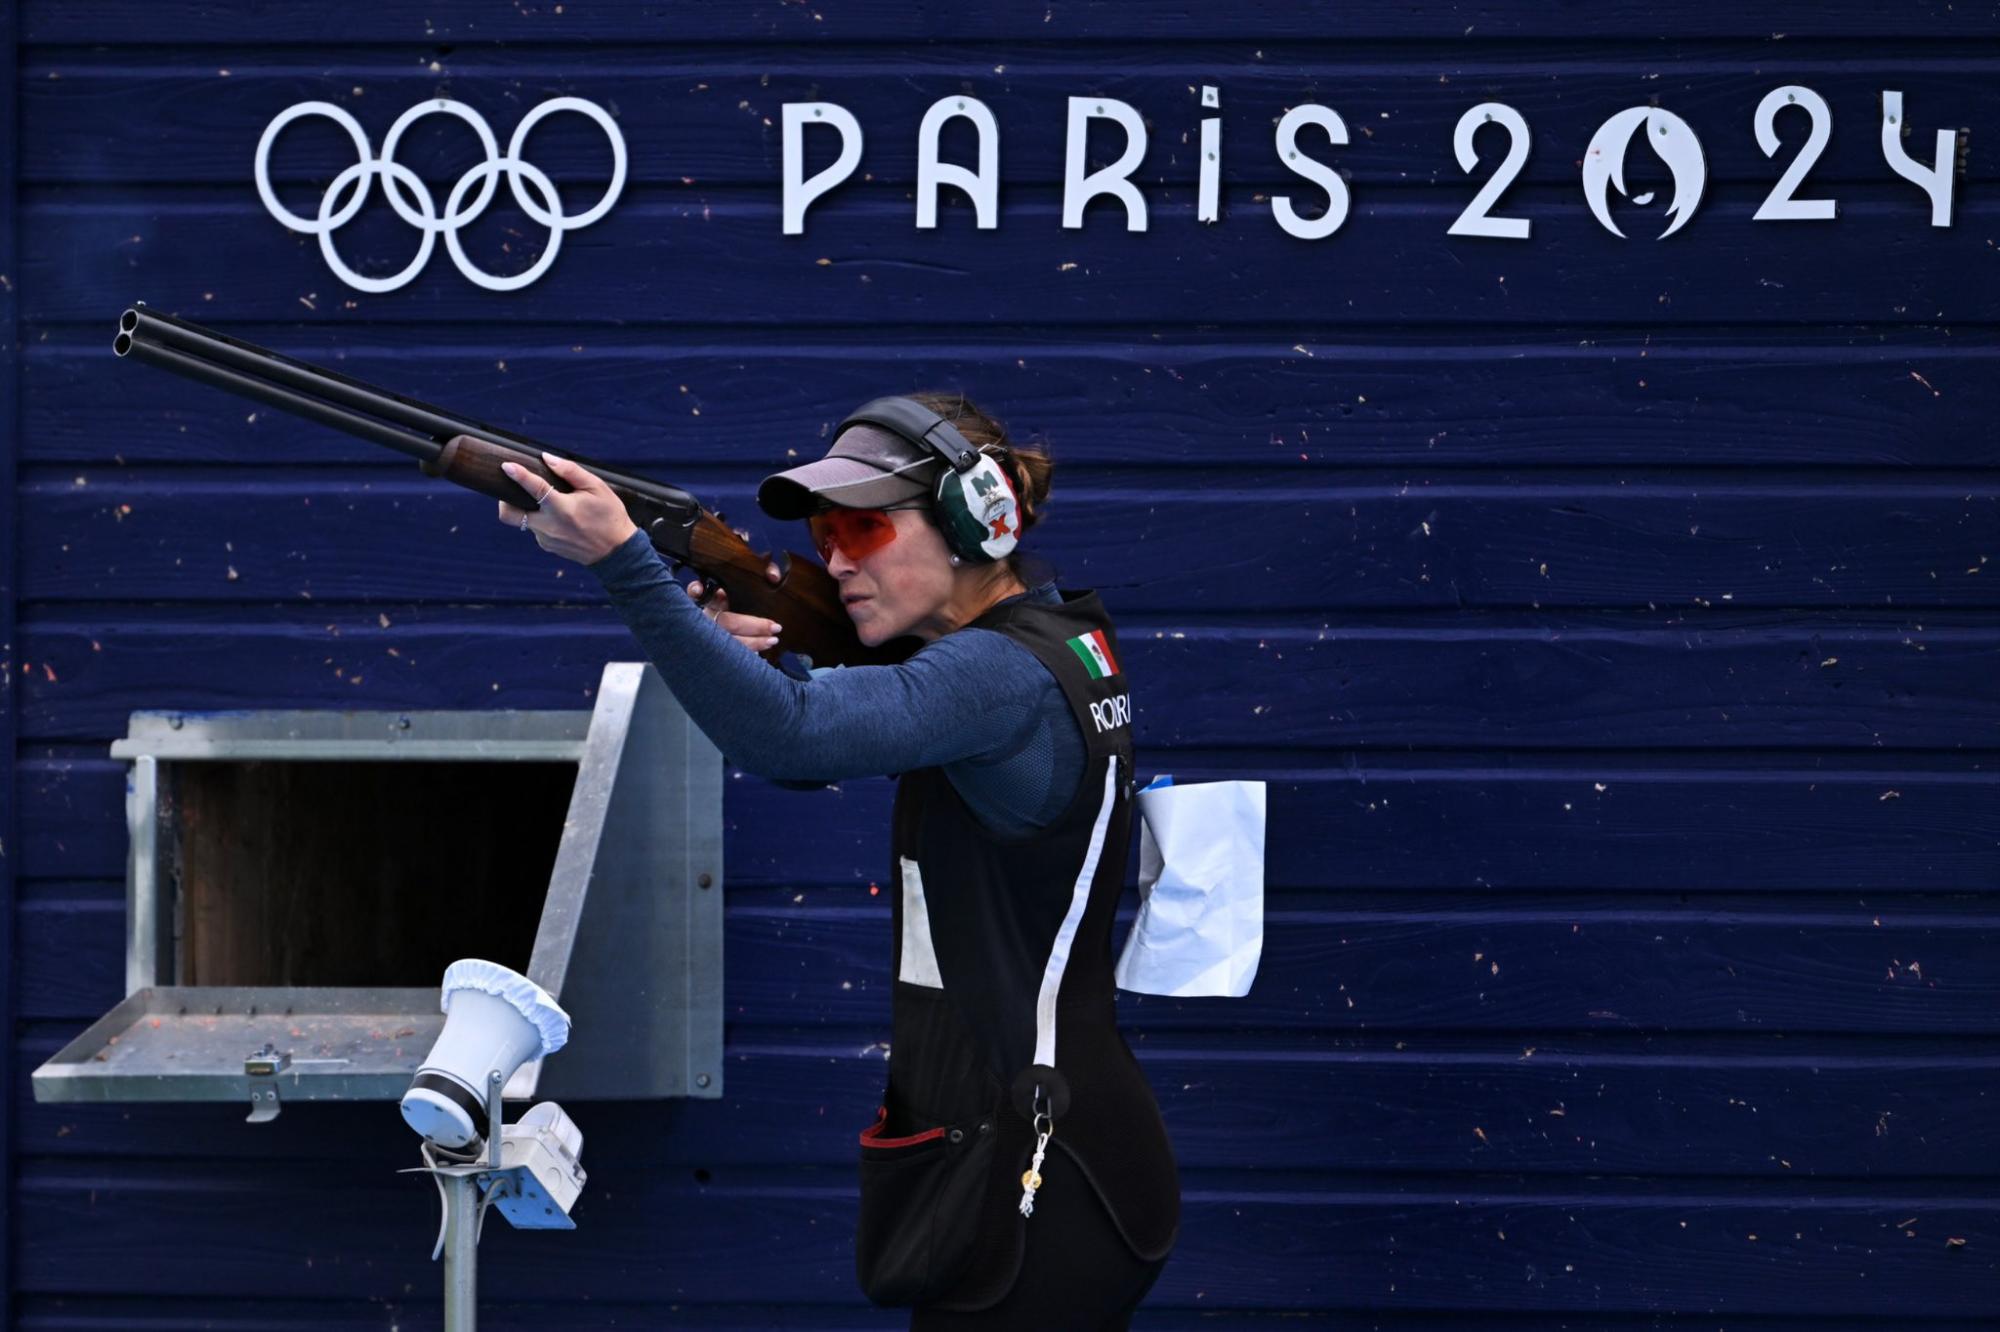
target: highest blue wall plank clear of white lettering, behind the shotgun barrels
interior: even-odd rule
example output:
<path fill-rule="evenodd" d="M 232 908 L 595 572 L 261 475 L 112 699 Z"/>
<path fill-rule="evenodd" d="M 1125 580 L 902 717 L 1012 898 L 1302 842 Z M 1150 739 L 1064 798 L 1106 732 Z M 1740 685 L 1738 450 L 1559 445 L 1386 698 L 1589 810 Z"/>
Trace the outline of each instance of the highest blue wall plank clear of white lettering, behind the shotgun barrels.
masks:
<path fill-rule="evenodd" d="M 216 322 L 214 302 L 178 314 Z M 114 362 L 104 310 L 22 358 L 24 464 L 204 462 L 296 468 L 378 458 L 332 430 Z M 304 314 L 304 310 L 300 310 Z M 1534 330 L 1380 336 L 1040 330 L 950 338 L 710 338 L 702 332 L 228 324 L 558 448 L 674 480 L 690 466 L 792 466 L 856 404 L 958 386 L 1016 440 L 1074 468 L 1992 468 L 2000 338 L 1990 330 L 1734 334 Z M 1566 334 L 1566 336 L 1564 336 Z M 1832 480 L 1832 478 L 1830 478 Z M 1858 484 L 1890 478 L 1866 476 Z"/>

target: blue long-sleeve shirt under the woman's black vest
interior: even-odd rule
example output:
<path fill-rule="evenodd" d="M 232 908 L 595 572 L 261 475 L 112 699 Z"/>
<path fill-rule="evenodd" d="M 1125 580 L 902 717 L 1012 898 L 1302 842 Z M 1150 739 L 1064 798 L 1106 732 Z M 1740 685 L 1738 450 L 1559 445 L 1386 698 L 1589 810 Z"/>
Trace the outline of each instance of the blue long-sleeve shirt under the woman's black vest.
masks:
<path fill-rule="evenodd" d="M 694 724 L 758 776 L 816 786 L 938 766 L 1002 836 L 1046 828 L 1076 794 L 1076 714 L 1048 668 L 1006 634 L 962 628 L 896 666 L 796 678 L 704 616 L 644 532 L 588 568 Z M 1062 600 L 1052 580 L 1020 598 Z"/>

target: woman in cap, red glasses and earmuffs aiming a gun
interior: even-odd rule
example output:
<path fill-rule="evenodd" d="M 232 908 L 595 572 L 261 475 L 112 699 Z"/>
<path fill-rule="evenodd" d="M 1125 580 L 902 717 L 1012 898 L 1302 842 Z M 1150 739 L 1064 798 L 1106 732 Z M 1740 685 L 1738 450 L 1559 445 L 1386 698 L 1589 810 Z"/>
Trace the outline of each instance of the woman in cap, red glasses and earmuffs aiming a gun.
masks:
<path fill-rule="evenodd" d="M 1046 454 L 918 394 L 864 404 L 824 458 L 768 476 L 758 504 L 808 522 L 858 638 L 922 644 L 802 672 L 756 656 L 782 626 L 720 592 L 700 608 L 604 482 L 544 462 L 574 492 L 508 464 L 536 506 L 502 502 L 500 520 L 598 576 L 722 752 L 784 784 L 900 774 L 862 1290 L 912 1306 L 918 1332 L 1124 1328 L 1178 1234 L 1180 1180 L 1112 1008 L 1132 820 L 1116 630 L 1096 592 L 1058 590 L 1016 550 L 1048 500 Z"/>

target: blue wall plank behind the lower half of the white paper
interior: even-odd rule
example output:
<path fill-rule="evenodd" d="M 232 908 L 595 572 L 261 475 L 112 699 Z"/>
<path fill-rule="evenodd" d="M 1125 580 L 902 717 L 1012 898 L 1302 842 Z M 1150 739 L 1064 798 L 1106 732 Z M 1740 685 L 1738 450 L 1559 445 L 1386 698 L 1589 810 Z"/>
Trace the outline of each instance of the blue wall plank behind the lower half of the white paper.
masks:
<path fill-rule="evenodd" d="M 736 1026 L 884 1026 L 888 906 L 864 890 L 732 894 Z M 1130 928 L 1120 914 L 1118 938 Z M 124 904 L 18 912 L 24 1018 L 94 1022 L 124 998 Z M 1990 904 L 1718 908 L 1586 898 L 1480 908 L 1294 896 L 1264 912 L 1240 1000 L 1120 994 L 1150 1032 L 1936 1032 L 2000 1034 Z M 428 984 L 410 976 L 408 984 Z"/>

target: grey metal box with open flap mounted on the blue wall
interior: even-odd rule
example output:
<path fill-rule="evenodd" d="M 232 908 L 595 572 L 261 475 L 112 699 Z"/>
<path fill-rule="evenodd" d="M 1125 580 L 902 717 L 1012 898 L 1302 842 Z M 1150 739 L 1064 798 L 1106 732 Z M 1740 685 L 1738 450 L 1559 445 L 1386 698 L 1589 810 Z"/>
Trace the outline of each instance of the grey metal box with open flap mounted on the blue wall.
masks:
<path fill-rule="evenodd" d="M 506 1096 L 722 1094 L 722 756 L 652 666 L 576 712 L 134 712 L 126 1000 L 34 1098 L 398 1100 L 490 958 L 576 1022 Z"/>

